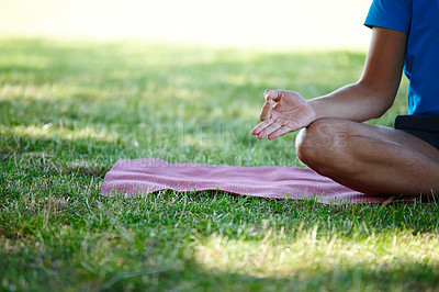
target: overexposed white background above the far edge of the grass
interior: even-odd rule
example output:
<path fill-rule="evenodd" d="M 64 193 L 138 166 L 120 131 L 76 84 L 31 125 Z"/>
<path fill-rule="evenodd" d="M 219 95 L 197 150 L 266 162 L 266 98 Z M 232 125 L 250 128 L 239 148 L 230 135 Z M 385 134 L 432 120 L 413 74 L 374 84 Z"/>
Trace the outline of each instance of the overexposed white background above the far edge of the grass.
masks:
<path fill-rule="evenodd" d="M 1 0 L 0 35 L 365 49 L 370 2 Z"/>

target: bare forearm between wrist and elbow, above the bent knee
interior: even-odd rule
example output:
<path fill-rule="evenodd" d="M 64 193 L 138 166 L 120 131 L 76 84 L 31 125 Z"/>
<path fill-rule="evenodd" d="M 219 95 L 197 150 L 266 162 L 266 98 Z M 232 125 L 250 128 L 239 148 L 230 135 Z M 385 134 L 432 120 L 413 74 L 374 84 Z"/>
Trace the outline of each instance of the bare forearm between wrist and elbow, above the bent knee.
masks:
<path fill-rule="evenodd" d="M 316 120 L 337 117 L 364 122 L 383 115 L 393 104 L 396 92 L 382 91 L 358 82 L 346 86 L 327 96 L 309 100 Z"/>

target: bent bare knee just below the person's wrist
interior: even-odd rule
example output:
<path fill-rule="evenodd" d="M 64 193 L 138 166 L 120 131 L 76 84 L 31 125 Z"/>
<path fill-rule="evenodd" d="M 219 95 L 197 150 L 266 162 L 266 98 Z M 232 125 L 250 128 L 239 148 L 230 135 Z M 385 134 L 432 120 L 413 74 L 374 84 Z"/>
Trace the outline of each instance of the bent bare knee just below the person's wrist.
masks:
<path fill-rule="evenodd" d="M 337 119 L 319 119 L 303 128 L 296 138 L 297 158 L 325 172 L 325 166 L 334 166 L 347 148 L 348 123 Z"/>

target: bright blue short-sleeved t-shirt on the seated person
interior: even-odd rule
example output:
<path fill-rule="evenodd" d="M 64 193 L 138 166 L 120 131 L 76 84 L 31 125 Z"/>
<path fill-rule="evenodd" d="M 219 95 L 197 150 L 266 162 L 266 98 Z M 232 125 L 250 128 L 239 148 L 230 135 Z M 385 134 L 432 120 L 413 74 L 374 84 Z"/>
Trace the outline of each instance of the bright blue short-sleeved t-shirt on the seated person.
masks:
<path fill-rule="evenodd" d="M 373 0 L 364 24 L 408 34 L 408 113 L 439 115 L 439 0 Z"/>

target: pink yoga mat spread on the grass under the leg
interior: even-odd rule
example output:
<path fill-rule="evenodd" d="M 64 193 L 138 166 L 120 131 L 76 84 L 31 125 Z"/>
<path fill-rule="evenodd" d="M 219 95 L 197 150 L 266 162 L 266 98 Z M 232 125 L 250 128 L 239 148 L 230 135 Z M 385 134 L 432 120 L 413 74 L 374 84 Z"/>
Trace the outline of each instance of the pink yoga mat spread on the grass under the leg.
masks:
<path fill-rule="evenodd" d="M 329 203 L 384 203 L 385 196 L 365 195 L 312 169 L 168 164 L 160 159 L 119 160 L 106 172 L 102 194 L 144 195 L 162 190 L 218 190 L 274 199 L 313 198 Z"/>

